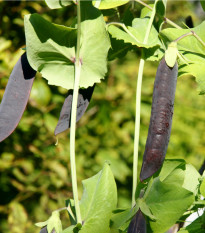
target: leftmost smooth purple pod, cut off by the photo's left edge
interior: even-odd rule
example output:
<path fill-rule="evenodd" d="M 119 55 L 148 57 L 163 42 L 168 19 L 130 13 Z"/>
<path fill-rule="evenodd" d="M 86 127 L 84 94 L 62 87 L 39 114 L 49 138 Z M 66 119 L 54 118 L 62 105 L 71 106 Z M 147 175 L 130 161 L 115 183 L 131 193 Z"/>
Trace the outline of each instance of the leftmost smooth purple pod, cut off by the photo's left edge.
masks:
<path fill-rule="evenodd" d="M 35 75 L 36 71 L 31 68 L 24 53 L 14 66 L 0 105 L 0 142 L 17 127 L 26 108 Z"/>

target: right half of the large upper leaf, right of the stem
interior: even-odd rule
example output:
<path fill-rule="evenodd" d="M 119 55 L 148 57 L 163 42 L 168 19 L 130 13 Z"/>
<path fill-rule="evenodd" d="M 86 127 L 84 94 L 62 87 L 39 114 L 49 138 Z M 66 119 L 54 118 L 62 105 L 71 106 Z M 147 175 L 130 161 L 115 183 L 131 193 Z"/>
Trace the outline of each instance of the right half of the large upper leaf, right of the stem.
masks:
<path fill-rule="evenodd" d="M 110 40 L 103 15 L 91 2 L 82 2 L 81 49 L 82 69 L 80 87 L 99 83 L 107 73 L 107 54 Z"/>

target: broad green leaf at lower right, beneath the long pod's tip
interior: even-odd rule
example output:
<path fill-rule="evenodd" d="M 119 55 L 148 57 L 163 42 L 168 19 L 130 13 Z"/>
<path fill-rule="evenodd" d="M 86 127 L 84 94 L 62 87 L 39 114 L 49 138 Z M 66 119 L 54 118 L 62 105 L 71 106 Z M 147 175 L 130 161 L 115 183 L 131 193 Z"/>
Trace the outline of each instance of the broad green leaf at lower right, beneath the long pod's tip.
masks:
<path fill-rule="evenodd" d="M 143 197 L 156 218 L 156 221 L 150 221 L 154 233 L 164 233 L 168 230 L 194 202 L 194 194 L 183 187 L 187 187 L 184 167 L 179 161 L 173 161 L 173 168 L 170 161 L 169 164 L 165 161 L 165 165 L 169 172 L 166 174 L 163 171 L 163 165 L 162 176 L 159 174 L 159 177 L 153 179 L 151 187 Z"/>

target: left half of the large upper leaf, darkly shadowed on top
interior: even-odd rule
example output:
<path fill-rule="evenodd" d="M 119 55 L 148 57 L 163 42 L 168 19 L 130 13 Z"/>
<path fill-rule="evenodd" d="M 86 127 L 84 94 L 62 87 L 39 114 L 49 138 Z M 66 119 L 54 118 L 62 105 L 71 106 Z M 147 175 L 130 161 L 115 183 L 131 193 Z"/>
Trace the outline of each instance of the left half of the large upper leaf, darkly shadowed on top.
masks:
<path fill-rule="evenodd" d="M 70 89 L 74 79 L 76 30 L 25 16 L 26 51 L 30 65 L 51 85 Z"/>

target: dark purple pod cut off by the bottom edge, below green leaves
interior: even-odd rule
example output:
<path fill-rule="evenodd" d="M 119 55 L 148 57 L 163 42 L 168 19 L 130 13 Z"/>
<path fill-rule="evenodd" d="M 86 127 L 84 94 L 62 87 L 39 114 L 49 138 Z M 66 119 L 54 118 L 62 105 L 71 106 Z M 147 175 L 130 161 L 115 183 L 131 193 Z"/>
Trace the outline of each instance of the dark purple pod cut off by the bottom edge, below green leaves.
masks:
<path fill-rule="evenodd" d="M 139 209 L 130 222 L 127 233 L 146 233 L 147 226 L 144 215 Z"/>

